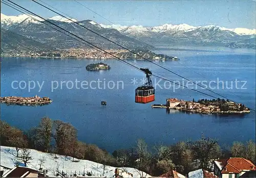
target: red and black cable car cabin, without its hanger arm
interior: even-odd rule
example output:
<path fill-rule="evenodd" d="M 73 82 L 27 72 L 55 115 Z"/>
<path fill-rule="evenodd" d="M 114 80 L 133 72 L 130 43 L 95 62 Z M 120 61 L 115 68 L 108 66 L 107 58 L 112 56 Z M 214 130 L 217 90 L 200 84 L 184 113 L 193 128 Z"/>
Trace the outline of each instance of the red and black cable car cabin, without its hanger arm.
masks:
<path fill-rule="evenodd" d="M 136 103 L 150 103 L 155 100 L 155 88 L 142 86 L 135 90 Z"/>

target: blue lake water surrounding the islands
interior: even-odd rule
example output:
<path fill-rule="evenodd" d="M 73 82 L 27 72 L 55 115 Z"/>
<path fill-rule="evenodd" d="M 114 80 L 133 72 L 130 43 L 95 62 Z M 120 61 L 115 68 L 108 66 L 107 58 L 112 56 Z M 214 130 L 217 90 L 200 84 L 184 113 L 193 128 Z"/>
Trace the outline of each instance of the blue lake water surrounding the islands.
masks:
<path fill-rule="evenodd" d="M 156 61 L 184 77 L 205 84 L 234 101 L 255 110 L 255 50 L 238 52 L 211 49 L 176 51 L 159 48 L 168 55 L 177 56 L 180 61 Z M 201 49 L 200 49 L 201 50 Z M 110 70 L 87 71 L 90 63 L 103 62 Z M 148 67 L 156 75 L 217 96 L 199 86 L 186 84 L 177 75 L 147 61 L 128 60 L 137 67 Z M 152 78 L 156 88 L 156 100 L 150 104 L 135 103 L 135 89 L 141 85 L 144 74 L 117 60 L 77 60 L 44 58 L 1 58 L 1 96 L 48 96 L 53 102 L 47 106 L 26 107 L 1 104 L 1 119 L 13 126 L 27 130 L 38 125 L 40 118 L 49 116 L 72 123 L 78 129 L 78 139 L 95 143 L 112 152 L 115 149 L 130 148 L 143 138 L 153 146 L 161 141 L 173 144 L 180 140 L 196 140 L 201 133 L 218 138 L 220 144 L 233 141 L 255 140 L 255 112 L 246 115 L 200 115 L 187 114 L 165 109 L 152 109 L 151 104 L 165 104 L 166 98 L 185 100 L 210 99 L 195 91 L 174 88 L 167 82 Z M 137 79 L 137 84 L 133 80 Z M 240 81 L 235 86 L 235 81 Z M 13 88 L 12 88 L 12 82 Z M 18 87 L 18 83 L 20 89 Z M 28 89 L 30 82 L 36 83 Z M 61 88 L 62 81 L 62 88 Z M 76 82 L 77 81 L 77 82 Z M 79 82 L 78 82 L 79 81 Z M 81 82 L 83 86 L 81 86 Z M 98 82 L 99 81 L 99 82 Z M 204 81 L 204 82 L 203 82 Z M 209 85 L 209 82 L 211 85 Z M 219 81 L 218 85 L 215 82 Z M 224 89 L 222 88 L 222 82 Z M 245 83 L 243 86 L 243 83 Z M 44 84 L 39 91 L 37 82 Z M 203 83 L 202 83 L 203 82 Z M 26 83 L 26 88 L 25 88 Z M 90 87 L 91 83 L 91 87 Z M 232 83 L 232 84 L 231 84 Z M 58 84 L 58 86 L 57 86 Z M 73 88 L 72 88 L 73 84 Z M 86 85 L 88 84 L 88 85 Z M 76 86 L 77 85 L 77 86 Z M 231 87 L 231 85 L 233 85 Z M 82 88 L 83 87 L 83 88 Z M 15 89 L 18 88 L 18 89 Z M 232 89 L 228 89 L 232 88 Z M 217 96 L 218 97 L 218 96 Z M 101 100 L 107 105 L 101 106 Z"/>

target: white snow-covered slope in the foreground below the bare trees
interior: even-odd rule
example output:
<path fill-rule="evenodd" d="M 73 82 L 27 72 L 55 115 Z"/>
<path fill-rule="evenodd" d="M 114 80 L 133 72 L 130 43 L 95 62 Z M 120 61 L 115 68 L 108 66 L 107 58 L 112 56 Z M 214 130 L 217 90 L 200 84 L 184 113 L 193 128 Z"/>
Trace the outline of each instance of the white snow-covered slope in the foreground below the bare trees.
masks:
<path fill-rule="evenodd" d="M 29 168 L 32 169 L 39 169 L 39 159 L 44 158 L 45 163 L 42 164 L 43 169 L 47 169 L 49 176 L 56 177 L 55 173 L 56 170 L 58 170 L 60 173 L 67 172 L 67 174 L 76 174 L 78 176 L 82 176 L 83 172 L 87 173 L 92 172 L 93 176 L 91 177 L 100 177 L 103 176 L 103 165 L 98 164 L 92 161 L 88 160 L 77 160 L 75 159 L 75 162 L 72 162 L 73 158 L 68 158 L 65 161 L 65 156 L 57 155 L 58 159 L 54 159 L 54 155 L 47 154 L 45 152 L 40 152 L 34 149 L 30 149 L 31 156 L 33 160 L 30 161 L 30 163 L 27 164 Z M 11 154 L 11 152 L 15 152 L 14 147 L 8 147 L 8 146 L 1 146 L 1 166 L 13 168 L 14 163 L 17 161 L 16 158 Z M 15 155 L 15 154 L 14 154 Z M 113 177 L 115 174 L 116 167 L 111 166 L 105 166 L 105 173 L 104 176 L 106 177 Z M 132 173 L 133 177 L 140 177 L 142 175 L 142 172 L 135 169 L 135 168 L 119 168 L 121 170 L 124 170 L 126 172 Z M 79 175 L 80 171 L 80 175 Z M 143 172 L 143 176 L 145 176 L 146 173 Z M 88 176 L 88 175 L 86 175 Z M 132 177 L 131 174 L 122 172 L 123 177 Z M 150 175 L 146 175 L 146 177 L 150 177 Z"/>

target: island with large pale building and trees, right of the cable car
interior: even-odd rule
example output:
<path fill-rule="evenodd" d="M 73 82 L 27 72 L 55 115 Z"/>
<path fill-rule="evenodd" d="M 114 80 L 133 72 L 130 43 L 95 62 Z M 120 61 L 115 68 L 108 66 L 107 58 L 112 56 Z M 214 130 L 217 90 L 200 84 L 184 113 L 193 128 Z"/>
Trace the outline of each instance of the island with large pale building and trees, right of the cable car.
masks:
<path fill-rule="evenodd" d="M 197 102 L 186 101 L 177 98 L 166 99 L 166 105 L 151 105 L 152 108 L 175 109 L 200 114 L 243 114 L 250 113 L 250 109 L 246 106 L 228 99 L 199 99 Z"/>

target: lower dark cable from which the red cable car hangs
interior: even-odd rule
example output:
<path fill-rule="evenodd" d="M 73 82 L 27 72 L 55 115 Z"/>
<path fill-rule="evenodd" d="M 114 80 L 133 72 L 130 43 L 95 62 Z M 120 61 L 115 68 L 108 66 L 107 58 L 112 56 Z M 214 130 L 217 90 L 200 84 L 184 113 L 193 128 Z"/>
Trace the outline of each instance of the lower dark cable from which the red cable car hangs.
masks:
<path fill-rule="evenodd" d="M 119 59 L 120 61 L 124 62 L 125 64 L 127 64 L 127 65 L 129 65 L 129 66 L 132 66 L 132 67 L 134 67 L 134 68 L 136 68 L 136 69 L 142 71 L 140 68 L 138 68 L 138 67 L 136 67 L 136 66 L 133 66 L 132 64 L 130 64 L 130 63 L 128 63 L 128 62 L 126 62 L 126 61 L 124 61 L 124 60 L 122 60 L 122 59 L 116 57 L 115 55 L 113 55 L 113 54 L 111 54 L 111 53 L 109 53 L 109 52 L 106 52 L 104 49 L 101 49 L 100 47 L 98 47 L 98 46 L 92 44 L 91 42 L 88 42 L 88 41 L 86 41 L 86 40 L 84 40 L 84 39 L 78 37 L 77 35 L 72 34 L 71 32 L 69 32 L 69 31 L 67 31 L 67 30 L 65 30 L 65 29 L 63 29 L 63 28 L 57 26 L 56 24 L 52 23 L 51 21 L 49 21 L 49 20 L 47 20 L 47 19 L 45 19 L 45 18 L 43 18 L 43 17 L 41 17 L 41 16 L 39 16 L 39 15 L 37 15 L 37 14 L 35 14 L 35 13 L 29 11 L 29 10 L 27 10 L 26 8 L 23 8 L 22 6 L 19 6 L 19 5 L 17 5 L 16 3 L 11 2 L 10 0 L 7 0 L 7 1 L 10 2 L 10 3 L 12 3 L 12 4 L 14 4 L 14 5 L 16 5 L 16 6 L 19 7 L 19 8 L 24 9 L 26 12 L 29 12 L 29 13 L 31 13 L 31 14 L 33 14 L 33 15 L 35 15 L 35 16 L 41 18 L 41 19 L 44 19 L 45 21 L 47 21 L 47 22 L 53 24 L 54 26 L 58 27 L 59 29 L 65 31 L 65 32 L 67 32 L 67 33 L 69 33 L 69 34 L 71 34 L 71 35 L 73 35 L 73 36 L 75 36 L 75 37 L 81 39 L 82 41 L 85 41 L 85 42 L 91 44 L 92 46 L 94 46 L 94 47 L 96 47 L 96 48 L 102 50 L 103 52 L 105 52 L 105 53 L 107 53 L 107 54 L 109 54 L 109 55 L 111 55 L 111 56 L 113 56 L 113 57 Z M 33 1 L 33 0 L 32 0 L 32 1 Z M 12 7 L 12 8 L 13 8 L 13 7 Z M 51 27 L 51 26 L 50 26 L 50 27 Z M 63 32 L 61 32 L 61 33 L 63 33 Z M 65 33 L 63 33 L 63 34 L 65 34 Z M 67 35 L 67 34 L 66 34 L 66 35 Z M 76 40 L 77 40 L 77 39 L 76 39 Z M 80 42 L 81 42 L 81 41 L 80 41 Z M 142 72 L 143 72 L 143 71 L 142 71 Z M 145 73 L 145 72 L 144 72 L 144 73 Z M 153 75 L 153 74 L 152 74 L 152 75 Z M 170 80 L 168 80 L 168 79 L 158 77 L 157 75 L 153 75 L 153 76 L 155 76 L 155 77 L 157 77 L 157 78 L 159 78 L 159 79 L 165 80 L 165 81 L 169 81 L 169 82 L 171 82 L 171 83 L 173 83 L 173 84 L 175 84 L 175 85 L 182 86 L 182 87 L 187 88 L 187 89 L 189 89 L 189 90 L 196 91 L 196 92 L 201 93 L 201 94 L 203 94 L 203 95 L 207 95 L 207 96 L 210 96 L 210 97 L 213 97 L 213 98 L 217 98 L 217 97 L 215 97 L 215 96 L 212 96 L 212 95 L 203 93 L 203 92 L 201 92 L 201 91 L 197 91 L 197 90 L 195 90 L 195 89 L 190 89 L 190 88 L 188 88 L 188 87 L 186 87 L 186 86 L 183 86 L 183 85 L 181 85 L 181 84 L 177 84 L 177 83 L 175 83 L 175 82 L 173 82 L 173 81 L 170 81 Z M 250 109 L 250 110 L 252 110 L 252 109 Z M 254 111 L 254 110 L 252 110 L 252 111 Z"/>

